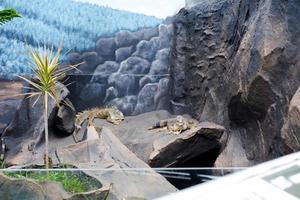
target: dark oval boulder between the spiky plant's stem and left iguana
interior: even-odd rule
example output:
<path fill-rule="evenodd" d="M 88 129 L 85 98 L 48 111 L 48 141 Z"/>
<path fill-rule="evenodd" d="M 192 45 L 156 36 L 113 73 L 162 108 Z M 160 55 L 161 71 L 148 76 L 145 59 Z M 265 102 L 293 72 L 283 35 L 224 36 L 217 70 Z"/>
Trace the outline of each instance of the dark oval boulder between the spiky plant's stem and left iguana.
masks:
<path fill-rule="evenodd" d="M 57 114 L 54 118 L 54 127 L 56 128 L 56 134 L 59 136 L 69 136 L 75 130 L 76 110 L 69 99 L 65 99 L 64 102 L 58 108 Z"/>

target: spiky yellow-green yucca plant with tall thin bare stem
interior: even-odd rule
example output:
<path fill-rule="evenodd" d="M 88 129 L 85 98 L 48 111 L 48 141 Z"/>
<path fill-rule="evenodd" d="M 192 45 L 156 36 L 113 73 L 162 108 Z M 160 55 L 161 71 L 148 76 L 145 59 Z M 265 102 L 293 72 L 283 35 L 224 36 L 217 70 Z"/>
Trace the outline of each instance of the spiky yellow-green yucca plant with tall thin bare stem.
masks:
<path fill-rule="evenodd" d="M 49 168 L 49 142 L 48 142 L 48 98 L 50 97 L 59 106 L 60 102 L 56 94 L 56 86 L 61 82 L 66 73 L 72 69 L 77 69 L 77 65 L 68 65 L 64 68 L 59 68 L 59 57 L 62 48 L 59 47 L 56 52 L 53 48 L 47 47 L 38 48 L 37 50 L 30 49 L 31 57 L 30 67 L 33 71 L 34 78 L 28 79 L 23 76 L 18 76 L 30 84 L 31 91 L 25 93 L 28 98 L 37 97 L 35 103 L 42 97 L 44 108 L 44 124 L 45 124 L 45 167 Z M 34 103 L 34 104 L 35 104 Z M 33 104 L 33 105 L 34 105 Z"/>

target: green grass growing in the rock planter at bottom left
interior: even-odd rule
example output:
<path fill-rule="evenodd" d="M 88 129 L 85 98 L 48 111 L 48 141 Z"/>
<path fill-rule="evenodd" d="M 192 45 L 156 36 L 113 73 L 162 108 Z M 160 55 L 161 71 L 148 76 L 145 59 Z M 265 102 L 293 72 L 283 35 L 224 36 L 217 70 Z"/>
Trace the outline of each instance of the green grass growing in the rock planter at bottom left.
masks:
<path fill-rule="evenodd" d="M 15 179 L 30 178 L 38 182 L 54 181 L 63 184 L 67 192 L 86 192 L 90 190 L 90 183 L 85 179 L 80 179 L 77 175 L 68 171 L 43 172 L 7 172 L 5 175 Z M 97 188 L 94 188 L 97 189 Z"/>

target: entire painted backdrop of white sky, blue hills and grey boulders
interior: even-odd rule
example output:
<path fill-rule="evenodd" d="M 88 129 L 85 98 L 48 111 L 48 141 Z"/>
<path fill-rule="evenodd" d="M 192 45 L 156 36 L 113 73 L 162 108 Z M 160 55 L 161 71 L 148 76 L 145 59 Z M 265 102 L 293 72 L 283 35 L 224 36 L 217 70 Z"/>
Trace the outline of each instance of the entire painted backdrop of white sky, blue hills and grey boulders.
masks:
<path fill-rule="evenodd" d="M 28 48 L 63 44 L 77 110 L 117 106 L 126 115 L 168 107 L 172 15 L 184 1 L 3 0 L 22 18 L 0 29 L 0 77 L 30 76 Z M 159 9 L 158 9 L 159 8 Z"/>

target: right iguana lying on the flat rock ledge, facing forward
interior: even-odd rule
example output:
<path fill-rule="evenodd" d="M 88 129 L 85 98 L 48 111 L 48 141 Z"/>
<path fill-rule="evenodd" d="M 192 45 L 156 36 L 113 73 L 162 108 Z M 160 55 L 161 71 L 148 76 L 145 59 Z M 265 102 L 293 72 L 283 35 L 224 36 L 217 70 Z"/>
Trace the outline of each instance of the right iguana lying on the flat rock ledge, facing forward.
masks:
<path fill-rule="evenodd" d="M 196 127 L 197 124 L 194 120 L 187 120 L 181 115 L 178 115 L 176 118 L 161 120 L 155 125 L 148 128 L 148 130 L 153 130 L 157 128 L 166 128 L 170 133 L 178 135 L 183 131 L 192 129 Z"/>

